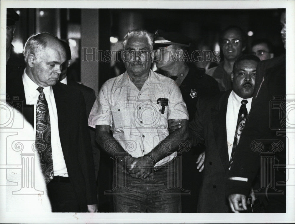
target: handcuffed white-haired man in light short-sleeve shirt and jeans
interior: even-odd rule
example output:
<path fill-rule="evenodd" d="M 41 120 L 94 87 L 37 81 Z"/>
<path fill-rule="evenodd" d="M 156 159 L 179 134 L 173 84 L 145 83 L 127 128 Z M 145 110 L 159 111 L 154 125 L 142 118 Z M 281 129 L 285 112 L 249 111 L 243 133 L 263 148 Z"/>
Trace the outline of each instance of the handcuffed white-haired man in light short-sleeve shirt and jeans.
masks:
<path fill-rule="evenodd" d="M 115 212 L 181 212 L 176 150 L 188 137 L 186 105 L 174 81 L 150 69 L 150 33 L 129 31 L 123 49 L 126 72 L 103 84 L 88 119 L 114 159 L 113 190 L 106 194 Z M 169 134 L 172 119 L 182 128 Z"/>

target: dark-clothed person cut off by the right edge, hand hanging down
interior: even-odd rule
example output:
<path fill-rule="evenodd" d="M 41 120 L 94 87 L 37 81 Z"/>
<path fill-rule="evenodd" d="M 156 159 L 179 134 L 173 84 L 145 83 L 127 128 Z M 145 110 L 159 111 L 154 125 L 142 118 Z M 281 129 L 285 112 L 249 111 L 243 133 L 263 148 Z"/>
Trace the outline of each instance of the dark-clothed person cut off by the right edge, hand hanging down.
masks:
<path fill-rule="evenodd" d="M 286 48 L 285 11 L 281 14 L 281 26 L 281 37 Z M 286 212 L 285 133 L 286 128 L 289 128 L 286 125 L 286 55 L 260 62 L 257 75 L 253 107 L 229 173 L 227 196 L 233 212 L 246 210 L 246 196 L 250 192 L 255 174 L 260 169 L 264 171 L 260 173 L 260 189 L 254 193 L 259 193 L 265 212 L 281 213 Z M 276 101 L 276 107 L 272 101 Z M 262 145 L 263 151 L 255 150 L 253 142 Z M 272 147 L 271 144 L 277 144 L 279 147 Z M 274 157 L 272 164 L 260 161 L 260 157 L 267 153 Z M 261 170 L 262 168 L 264 170 Z M 265 180 L 268 182 L 262 182 Z"/>

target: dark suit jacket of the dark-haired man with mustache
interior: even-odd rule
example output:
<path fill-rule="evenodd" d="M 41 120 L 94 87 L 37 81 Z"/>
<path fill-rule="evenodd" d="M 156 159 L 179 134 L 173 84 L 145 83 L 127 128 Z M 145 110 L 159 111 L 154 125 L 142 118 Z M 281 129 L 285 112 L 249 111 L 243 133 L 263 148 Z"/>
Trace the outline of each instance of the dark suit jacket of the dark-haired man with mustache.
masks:
<path fill-rule="evenodd" d="M 198 212 L 229 211 L 225 190 L 229 165 L 226 112 L 230 92 L 221 92 L 209 99 L 200 98 L 194 120 L 189 123 L 191 143 L 205 143 L 206 146 Z"/>

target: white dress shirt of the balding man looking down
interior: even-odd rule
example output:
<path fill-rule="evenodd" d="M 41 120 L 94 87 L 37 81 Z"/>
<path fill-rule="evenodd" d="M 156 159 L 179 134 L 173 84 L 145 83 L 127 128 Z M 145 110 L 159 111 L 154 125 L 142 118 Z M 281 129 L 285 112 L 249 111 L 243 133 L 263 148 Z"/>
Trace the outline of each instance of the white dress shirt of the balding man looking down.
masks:
<path fill-rule="evenodd" d="M 24 70 L 22 76 L 22 82 L 24 84 L 24 94 L 26 97 L 26 103 L 34 105 L 34 132 L 36 133 L 36 106 L 38 97 L 40 95 L 37 88 L 39 87 L 34 83 Z M 65 159 L 63 157 L 63 150 L 60 144 L 59 131 L 58 131 L 58 116 L 54 99 L 54 94 L 51 86 L 43 88 L 43 92 L 48 104 L 49 116 L 50 116 L 50 129 L 51 129 L 51 148 L 52 148 L 52 160 L 53 160 L 53 175 L 68 177 L 68 170 L 65 165 Z"/>

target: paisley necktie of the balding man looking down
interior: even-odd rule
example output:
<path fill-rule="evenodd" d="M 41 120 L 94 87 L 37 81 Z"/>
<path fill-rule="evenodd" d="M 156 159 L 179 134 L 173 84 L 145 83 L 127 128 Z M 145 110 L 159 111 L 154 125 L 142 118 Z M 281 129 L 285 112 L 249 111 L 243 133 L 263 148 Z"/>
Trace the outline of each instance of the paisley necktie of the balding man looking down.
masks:
<path fill-rule="evenodd" d="M 43 87 L 37 90 L 40 95 L 36 107 L 36 148 L 45 183 L 49 183 L 53 179 L 50 117 Z"/>

